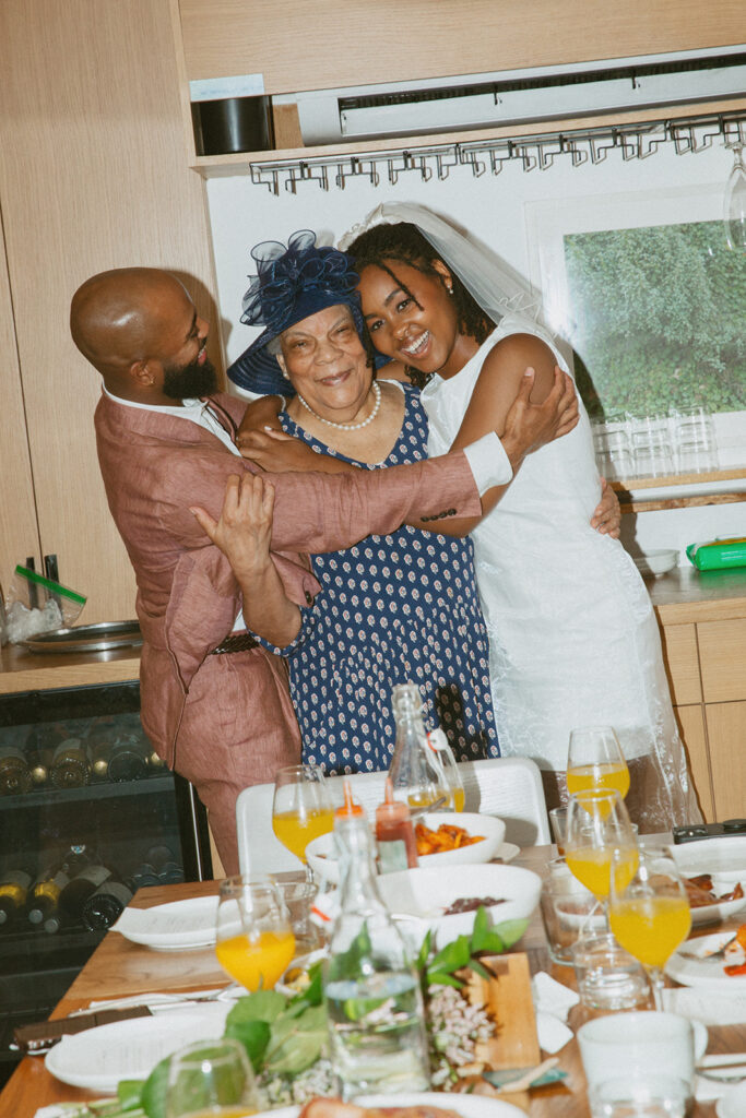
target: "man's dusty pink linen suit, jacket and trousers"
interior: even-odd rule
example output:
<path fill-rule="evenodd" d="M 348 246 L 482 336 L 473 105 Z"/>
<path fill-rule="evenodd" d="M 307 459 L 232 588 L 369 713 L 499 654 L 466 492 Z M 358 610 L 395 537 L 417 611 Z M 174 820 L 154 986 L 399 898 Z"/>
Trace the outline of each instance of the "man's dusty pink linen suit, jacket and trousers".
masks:
<path fill-rule="evenodd" d="M 243 400 L 213 399 L 240 423 Z M 106 395 L 94 421 L 108 506 L 138 584 L 142 723 L 159 755 L 197 788 L 225 870 L 236 873 L 236 797 L 296 764 L 301 742 L 280 657 L 259 647 L 210 655 L 233 629 L 242 596 L 189 506 L 217 519 L 228 475 L 256 467 L 189 419 Z M 303 606 L 320 590 L 306 552 L 350 547 L 412 518 L 481 512 L 463 454 L 370 473 L 266 476 L 275 487 L 273 560 L 287 596 Z"/>

